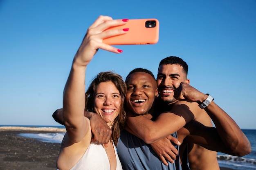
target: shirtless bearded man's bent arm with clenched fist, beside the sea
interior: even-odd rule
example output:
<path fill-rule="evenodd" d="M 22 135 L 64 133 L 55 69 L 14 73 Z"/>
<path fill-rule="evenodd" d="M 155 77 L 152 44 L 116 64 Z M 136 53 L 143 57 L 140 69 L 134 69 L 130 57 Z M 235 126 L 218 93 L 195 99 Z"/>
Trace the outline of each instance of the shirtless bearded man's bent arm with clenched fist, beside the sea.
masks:
<path fill-rule="evenodd" d="M 186 83 L 181 83 L 176 90 L 175 98 L 178 99 L 185 99 L 184 96 L 186 96 L 186 100 L 201 103 L 207 98 L 206 94 L 199 92 L 197 89 L 194 89 Z M 212 127 L 205 127 L 202 129 L 202 127 L 200 127 L 198 131 L 195 131 L 196 135 L 188 137 L 191 139 L 190 142 L 202 142 L 201 144 L 208 147 L 210 150 L 215 150 L 217 148 L 218 150 L 216 151 L 237 156 L 247 155 L 251 152 L 250 142 L 243 131 L 225 111 L 216 105 L 215 102 L 211 101 L 204 110 L 213 120 L 216 129 Z M 200 134 L 200 137 L 198 137 L 199 134 L 197 133 Z M 216 146 L 216 144 L 218 146 Z"/>

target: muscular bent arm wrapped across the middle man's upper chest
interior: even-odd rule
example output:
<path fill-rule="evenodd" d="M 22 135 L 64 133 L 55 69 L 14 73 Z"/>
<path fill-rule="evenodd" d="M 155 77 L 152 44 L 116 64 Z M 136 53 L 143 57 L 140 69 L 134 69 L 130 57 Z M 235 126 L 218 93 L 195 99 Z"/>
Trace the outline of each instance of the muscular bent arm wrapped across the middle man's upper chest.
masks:
<path fill-rule="evenodd" d="M 198 105 L 196 106 L 198 107 Z M 127 124 L 139 138 L 151 144 L 176 132 L 187 122 L 193 120 L 194 115 L 192 112 L 196 112 L 197 107 L 195 107 L 194 103 L 178 101 L 171 112 L 161 113 L 155 121 L 145 116 L 129 113 Z"/>

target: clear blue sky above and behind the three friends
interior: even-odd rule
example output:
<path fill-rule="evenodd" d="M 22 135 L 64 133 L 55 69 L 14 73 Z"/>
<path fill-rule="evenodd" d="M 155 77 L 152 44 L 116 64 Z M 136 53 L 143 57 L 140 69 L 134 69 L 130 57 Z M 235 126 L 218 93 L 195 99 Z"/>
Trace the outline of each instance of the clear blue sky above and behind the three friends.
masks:
<path fill-rule="evenodd" d="M 209 93 L 242 129 L 256 129 L 256 0 L 2 0 L 0 1 L 0 125 L 59 125 L 52 113 L 72 59 L 99 15 L 157 18 L 154 45 L 99 50 L 86 82 L 101 71 L 155 75 L 174 55 L 189 65 L 191 85 Z"/>

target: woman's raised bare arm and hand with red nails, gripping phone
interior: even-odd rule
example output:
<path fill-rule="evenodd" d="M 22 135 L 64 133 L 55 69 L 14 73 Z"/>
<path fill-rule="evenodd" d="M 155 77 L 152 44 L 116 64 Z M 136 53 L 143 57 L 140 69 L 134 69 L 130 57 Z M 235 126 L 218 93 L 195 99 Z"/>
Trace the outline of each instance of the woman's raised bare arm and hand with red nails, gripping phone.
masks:
<path fill-rule="evenodd" d="M 85 72 L 88 64 L 99 48 L 120 53 L 115 47 L 102 43 L 102 39 L 125 34 L 126 31 L 116 29 L 104 31 L 109 27 L 124 25 L 122 20 L 112 20 L 108 16 L 100 16 L 89 28 L 81 46 L 75 54 L 72 68 L 63 93 L 63 119 L 70 140 L 81 141 L 90 131 L 90 122 L 84 117 L 85 109 Z"/>

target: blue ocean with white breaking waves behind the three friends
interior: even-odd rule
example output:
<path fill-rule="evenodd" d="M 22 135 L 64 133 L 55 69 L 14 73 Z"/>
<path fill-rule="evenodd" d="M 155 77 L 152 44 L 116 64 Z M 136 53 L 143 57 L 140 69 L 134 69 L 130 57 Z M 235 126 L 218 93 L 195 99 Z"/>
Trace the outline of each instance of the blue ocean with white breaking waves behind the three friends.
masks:
<path fill-rule="evenodd" d="M 65 126 L 23 126 L 23 127 L 57 127 Z M 252 146 L 252 153 L 244 157 L 236 157 L 224 153 L 218 153 L 217 159 L 220 167 L 234 170 L 256 170 L 256 129 L 242 129 Z M 23 137 L 31 137 L 42 142 L 61 143 L 65 133 L 20 133 Z"/>

